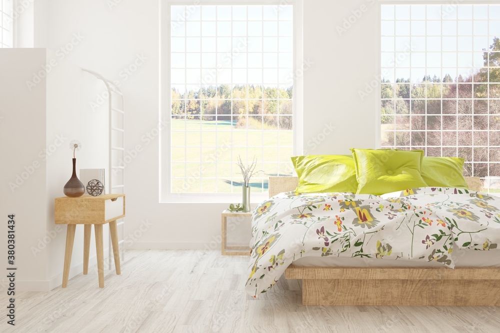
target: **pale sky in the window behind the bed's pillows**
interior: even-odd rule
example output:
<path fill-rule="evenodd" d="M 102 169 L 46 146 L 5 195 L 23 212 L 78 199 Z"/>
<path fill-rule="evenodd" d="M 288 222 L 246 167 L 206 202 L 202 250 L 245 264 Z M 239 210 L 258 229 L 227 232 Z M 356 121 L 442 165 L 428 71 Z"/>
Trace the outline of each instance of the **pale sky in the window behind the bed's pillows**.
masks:
<path fill-rule="evenodd" d="M 500 37 L 500 4 L 381 5 L 380 18 L 380 63 L 390 82 L 470 75 Z"/>

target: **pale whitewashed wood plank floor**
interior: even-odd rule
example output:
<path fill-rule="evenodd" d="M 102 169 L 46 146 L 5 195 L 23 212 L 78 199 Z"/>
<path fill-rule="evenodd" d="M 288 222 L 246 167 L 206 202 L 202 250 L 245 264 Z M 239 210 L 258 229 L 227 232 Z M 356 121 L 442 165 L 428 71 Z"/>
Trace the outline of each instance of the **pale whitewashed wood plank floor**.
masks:
<path fill-rule="evenodd" d="M 16 326 L 1 316 L 0 332 L 500 332 L 500 308 L 305 307 L 297 281 L 284 279 L 251 300 L 243 290 L 248 257 L 161 250 L 127 256 L 121 276 L 107 272 L 104 289 L 94 267 L 66 289 L 19 293 Z"/>

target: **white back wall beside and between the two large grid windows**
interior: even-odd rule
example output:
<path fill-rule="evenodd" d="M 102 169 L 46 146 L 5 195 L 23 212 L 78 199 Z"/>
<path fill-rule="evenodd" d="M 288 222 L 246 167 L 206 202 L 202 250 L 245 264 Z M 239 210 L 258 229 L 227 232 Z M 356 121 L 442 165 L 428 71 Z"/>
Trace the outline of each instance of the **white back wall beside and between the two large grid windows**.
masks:
<path fill-rule="evenodd" d="M 220 212 L 227 203 L 158 203 L 158 140 L 148 141 L 145 135 L 158 126 L 159 1 L 39 1 L 48 14 L 45 39 L 49 49 L 61 47 L 73 33 L 80 33 L 84 39 L 68 59 L 121 82 L 126 149 L 140 148 L 126 165 L 128 247 L 217 248 Z M 365 12 L 339 36 L 336 25 L 362 4 Z M 364 89 L 378 68 L 377 10 L 376 4 L 365 0 L 304 1 L 304 59 L 313 62 L 304 74 L 303 146 L 309 154 L 375 147 L 376 94 L 360 100 L 357 91 Z M 125 75 L 123 69 L 137 54 L 147 60 Z M 323 137 L 325 123 L 336 126 L 335 133 Z M 318 139 L 322 139 L 319 145 L 314 143 Z M 246 241 L 246 224 L 237 227 L 237 240 Z"/>

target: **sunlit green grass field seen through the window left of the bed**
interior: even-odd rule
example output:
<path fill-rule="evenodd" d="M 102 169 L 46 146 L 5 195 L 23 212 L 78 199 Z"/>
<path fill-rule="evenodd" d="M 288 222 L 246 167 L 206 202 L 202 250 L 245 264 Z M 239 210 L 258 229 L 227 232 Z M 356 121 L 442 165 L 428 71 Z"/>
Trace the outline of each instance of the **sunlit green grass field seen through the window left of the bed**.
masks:
<path fill-rule="evenodd" d="M 252 193 L 262 185 L 267 191 L 269 176 L 292 174 L 292 131 L 247 131 L 235 123 L 172 119 L 172 193 L 240 193 L 238 155 L 243 162 L 255 156 L 255 170 L 263 170 L 252 179 Z"/>

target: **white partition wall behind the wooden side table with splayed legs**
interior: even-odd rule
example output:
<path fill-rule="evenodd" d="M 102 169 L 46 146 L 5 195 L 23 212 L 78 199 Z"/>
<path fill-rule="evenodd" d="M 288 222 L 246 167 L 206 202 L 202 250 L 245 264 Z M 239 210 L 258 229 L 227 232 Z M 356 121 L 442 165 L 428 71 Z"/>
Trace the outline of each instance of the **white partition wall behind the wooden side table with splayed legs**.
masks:
<path fill-rule="evenodd" d="M 62 278 L 66 227 L 54 224 L 54 198 L 63 196 L 71 176 L 69 142 L 82 143 L 77 174 L 107 169 L 107 113 L 88 106 L 101 89 L 95 80 L 44 48 L 1 49 L 0 73 L 0 139 L 8 143 L 0 145 L 0 212 L 16 215 L 17 290 L 48 291 Z M 93 240 L 91 247 L 90 265 Z M 77 227 L 70 278 L 82 263 L 83 228 Z"/>

